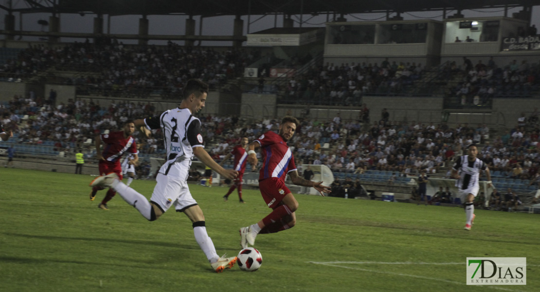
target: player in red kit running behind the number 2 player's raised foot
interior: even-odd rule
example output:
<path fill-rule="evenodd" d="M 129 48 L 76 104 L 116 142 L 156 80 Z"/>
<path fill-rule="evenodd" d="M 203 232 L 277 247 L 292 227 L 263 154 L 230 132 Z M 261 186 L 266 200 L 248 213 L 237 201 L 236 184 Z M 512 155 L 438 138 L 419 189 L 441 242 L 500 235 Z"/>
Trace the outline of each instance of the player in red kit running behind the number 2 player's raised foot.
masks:
<path fill-rule="evenodd" d="M 137 144 L 135 139 L 131 137 L 135 131 L 135 124 L 133 121 L 127 120 L 124 125 L 124 130 L 119 132 L 113 132 L 109 134 L 100 134 L 96 136 L 96 158 L 99 160 L 99 174 L 105 175 L 111 172 L 116 173 L 120 180 L 122 180 L 122 155 L 124 153 L 133 154 L 132 161 L 137 163 L 139 155 L 137 155 Z M 101 152 L 102 141 L 105 143 L 103 153 Z M 93 187 L 90 192 L 90 201 L 96 198 L 97 191 L 104 189 L 103 187 Z M 98 208 L 109 210 L 107 208 L 107 202 L 116 195 L 116 192 L 112 188 L 109 188 L 103 201 L 98 205 Z"/>

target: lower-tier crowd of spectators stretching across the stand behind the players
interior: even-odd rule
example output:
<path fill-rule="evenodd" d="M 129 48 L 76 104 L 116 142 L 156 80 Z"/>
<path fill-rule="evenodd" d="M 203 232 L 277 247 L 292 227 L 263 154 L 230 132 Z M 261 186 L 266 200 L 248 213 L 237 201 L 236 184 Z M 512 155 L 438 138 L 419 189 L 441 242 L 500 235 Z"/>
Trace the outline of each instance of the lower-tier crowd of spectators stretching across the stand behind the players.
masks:
<path fill-rule="evenodd" d="M 365 106 L 367 109 L 367 106 Z M 368 110 L 367 110 L 368 111 Z M 381 119 L 367 123 L 366 110 L 358 120 L 328 120 L 302 118 L 296 134 L 289 142 L 296 164 L 326 165 L 332 171 L 362 174 L 386 171 L 397 176 L 441 173 L 442 166 L 451 166 L 456 154 L 463 153 L 471 143 L 483 145 L 478 157 L 488 164 L 495 177 L 524 180 L 540 184 L 540 113 L 535 111 L 518 120 L 518 125 L 496 137 L 487 125 L 435 125 L 416 121 Z M 55 151 L 72 152 L 91 148 L 96 134 L 117 131 L 129 119 L 155 116 L 152 103 L 118 101 L 100 106 L 99 101 L 70 100 L 53 105 L 49 99 L 15 96 L 0 106 L 0 117 L 6 130 L 16 133 L 14 141 L 21 144 L 49 145 Z M 25 117 L 28 116 L 28 117 Z M 24 117 L 24 119 L 22 118 Z M 276 131 L 279 120 L 244 120 L 238 116 L 200 115 L 203 137 L 214 159 L 221 160 L 241 137 L 254 140 L 268 130 Z M 491 136 L 491 137 L 490 137 Z M 165 152 L 159 130 L 153 138 L 138 141 L 143 154 Z M 86 143 L 85 143 L 86 142 Z M 90 146 L 90 147 L 89 147 Z M 448 175 L 448 173 L 447 173 Z"/>

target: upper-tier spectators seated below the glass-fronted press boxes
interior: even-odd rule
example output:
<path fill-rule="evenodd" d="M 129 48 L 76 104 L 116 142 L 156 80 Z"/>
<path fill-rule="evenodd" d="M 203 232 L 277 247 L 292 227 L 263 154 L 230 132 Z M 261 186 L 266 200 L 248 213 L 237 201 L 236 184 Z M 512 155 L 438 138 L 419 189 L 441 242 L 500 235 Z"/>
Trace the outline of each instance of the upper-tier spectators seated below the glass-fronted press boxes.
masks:
<path fill-rule="evenodd" d="M 390 63 L 388 58 L 380 65 L 365 62 L 341 65 L 326 63 L 289 80 L 283 101 L 360 105 L 363 94 L 402 93 L 405 87 L 421 78 L 423 70 L 421 64 Z"/>

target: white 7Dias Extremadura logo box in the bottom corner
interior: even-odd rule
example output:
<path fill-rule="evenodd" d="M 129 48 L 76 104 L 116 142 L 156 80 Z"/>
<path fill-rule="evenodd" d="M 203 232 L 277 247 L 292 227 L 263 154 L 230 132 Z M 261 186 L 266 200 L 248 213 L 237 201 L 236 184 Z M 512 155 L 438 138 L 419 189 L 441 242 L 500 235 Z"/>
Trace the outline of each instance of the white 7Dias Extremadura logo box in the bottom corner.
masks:
<path fill-rule="evenodd" d="M 527 285 L 527 257 L 467 257 L 467 285 Z"/>

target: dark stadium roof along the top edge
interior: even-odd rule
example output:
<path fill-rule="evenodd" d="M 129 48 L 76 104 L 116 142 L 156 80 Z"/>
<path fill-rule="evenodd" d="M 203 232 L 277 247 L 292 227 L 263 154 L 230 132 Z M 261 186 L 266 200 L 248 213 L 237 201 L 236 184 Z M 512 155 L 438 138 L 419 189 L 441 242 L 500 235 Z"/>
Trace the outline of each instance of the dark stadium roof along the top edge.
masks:
<path fill-rule="evenodd" d="M 540 5 L 540 0 L 22 0 L 0 8 L 11 12 L 97 13 L 103 15 L 265 15 L 316 13 L 414 12 L 514 8 Z M 21 3 L 21 2 L 19 2 Z"/>

